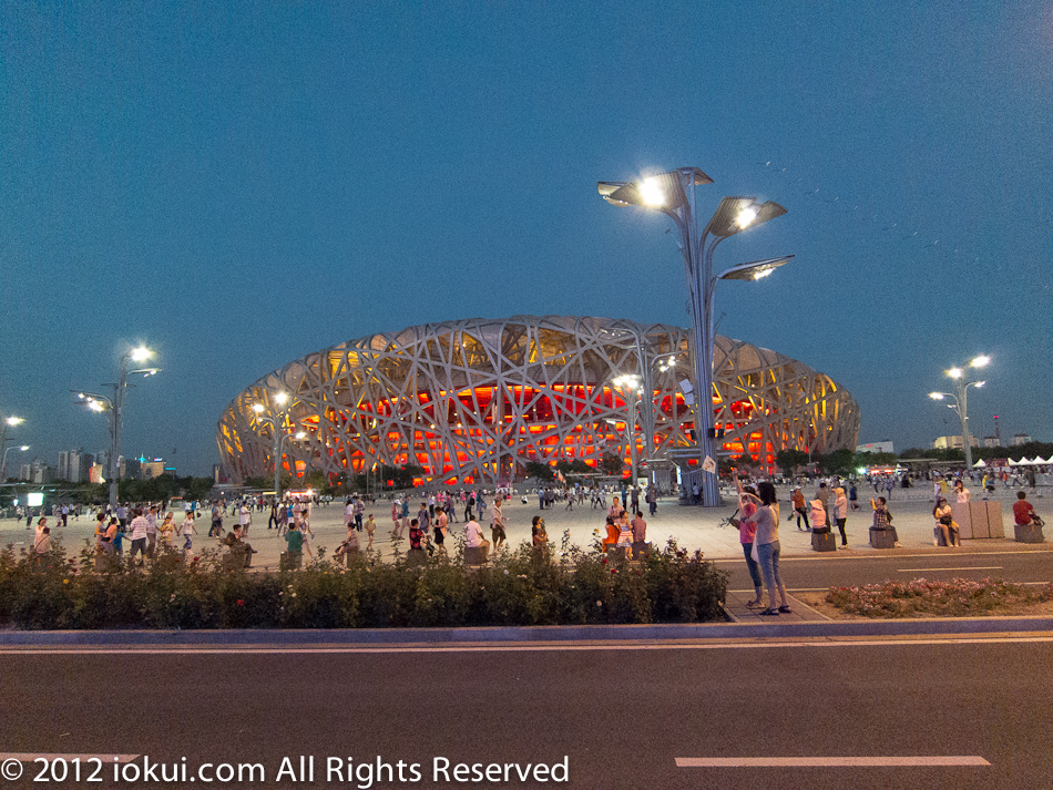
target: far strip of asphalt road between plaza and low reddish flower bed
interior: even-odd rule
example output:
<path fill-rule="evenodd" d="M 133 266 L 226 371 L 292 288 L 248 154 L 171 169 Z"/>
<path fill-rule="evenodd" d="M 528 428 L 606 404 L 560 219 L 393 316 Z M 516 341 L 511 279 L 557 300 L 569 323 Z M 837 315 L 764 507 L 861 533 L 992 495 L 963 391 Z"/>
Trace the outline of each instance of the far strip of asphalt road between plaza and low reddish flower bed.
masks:
<path fill-rule="evenodd" d="M 716 560 L 717 567 L 730 572 L 729 589 L 753 589 L 745 558 Z M 885 581 L 909 582 L 916 578 L 972 578 L 988 576 L 1010 582 L 1047 583 L 1053 581 L 1053 548 L 1036 546 L 1034 551 L 961 553 L 913 553 L 897 551 L 891 555 L 856 555 L 784 557 L 779 571 L 787 589 L 826 589 Z M 1053 784 L 1051 784 L 1053 787 Z"/>

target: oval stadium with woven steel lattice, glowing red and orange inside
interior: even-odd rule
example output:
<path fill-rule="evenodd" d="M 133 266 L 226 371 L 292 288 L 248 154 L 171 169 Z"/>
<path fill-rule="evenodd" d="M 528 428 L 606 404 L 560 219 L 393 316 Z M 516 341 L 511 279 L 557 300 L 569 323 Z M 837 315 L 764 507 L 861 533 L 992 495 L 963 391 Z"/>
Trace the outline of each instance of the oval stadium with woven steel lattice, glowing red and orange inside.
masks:
<path fill-rule="evenodd" d="M 689 336 L 678 327 L 574 316 L 464 319 L 371 335 L 246 388 L 219 420 L 219 453 L 235 482 L 267 476 L 277 425 L 279 463 L 294 478 L 413 464 L 426 482 L 493 484 L 521 478 L 530 461 L 596 466 L 613 453 L 628 464 L 633 443 L 643 469 L 691 469 L 693 406 L 682 384 L 694 370 Z M 640 377 L 638 396 L 613 383 L 624 373 Z M 748 455 L 771 469 L 780 449 L 856 447 L 856 401 L 795 359 L 718 336 L 713 378 L 722 455 Z"/>

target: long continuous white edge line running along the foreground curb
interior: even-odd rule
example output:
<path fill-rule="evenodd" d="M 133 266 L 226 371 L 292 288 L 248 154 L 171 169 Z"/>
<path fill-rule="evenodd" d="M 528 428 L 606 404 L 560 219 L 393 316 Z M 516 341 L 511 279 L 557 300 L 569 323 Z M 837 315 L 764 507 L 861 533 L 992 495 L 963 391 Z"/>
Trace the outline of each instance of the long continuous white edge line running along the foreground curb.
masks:
<path fill-rule="evenodd" d="M 1044 632 L 1043 632 L 1044 633 Z M 724 637 L 715 637 L 722 639 Z M 1050 636 L 980 636 L 980 637 L 944 637 L 939 639 L 914 639 L 910 635 L 901 638 L 901 635 L 892 635 L 883 639 L 853 639 L 852 637 L 817 636 L 814 640 L 801 638 L 789 639 L 786 642 L 765 640 L 764 637 L 750 637 L 755 642 L 746 643 L 724 643 L 715 644 L 682 644 L 682 643 L 662 643 L 662 644 L 633 644 L 622 643 L 614 645 L 413 645 L 413 646 L 385 646 L 385 647 L 355 647 L 355 646 L 331 646 L 319 645 L 315 647 L 280 647 L 280 646 L 251 646 L 251 647 L 186 647 L 173 645 L 171 647 L 72 647 L 62 648 L 39 648 L 39 647 L 0 647 L 0 655 L 7 656 L 73 656 L 73 655 L 101 655 L 101 656 L 133 656 L 133 655 L 197 655 L 197 656 L 224 656 L 224 655 L 262 655 L 262 656 L 284 656 L 284 655 L 310 655 L 310 654 L 376 654 L 389 655 L 399 653 L 594 653 L 611 650 L 755 650 L 769 647 L 875 647 L 890 645 L 984 645 L 984 644 L 1021 644 L 1021 643 L 1053 643 L 1053 635 Z"/>

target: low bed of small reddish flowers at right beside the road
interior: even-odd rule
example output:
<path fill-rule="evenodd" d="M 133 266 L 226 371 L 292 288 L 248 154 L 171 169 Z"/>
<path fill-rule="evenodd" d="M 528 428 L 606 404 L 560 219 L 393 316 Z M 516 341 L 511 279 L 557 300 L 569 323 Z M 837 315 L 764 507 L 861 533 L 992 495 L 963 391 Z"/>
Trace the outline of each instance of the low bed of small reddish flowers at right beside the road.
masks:
<path fill-rule="evenodd" d="M 830 587 L 826 601 L 846 614 L 863 617 L 1000 615 L 1016 605 L 1053 601 L 1053 584 L 1024 586 L 1001 578 L 917 578 L 865 587 Z"/>

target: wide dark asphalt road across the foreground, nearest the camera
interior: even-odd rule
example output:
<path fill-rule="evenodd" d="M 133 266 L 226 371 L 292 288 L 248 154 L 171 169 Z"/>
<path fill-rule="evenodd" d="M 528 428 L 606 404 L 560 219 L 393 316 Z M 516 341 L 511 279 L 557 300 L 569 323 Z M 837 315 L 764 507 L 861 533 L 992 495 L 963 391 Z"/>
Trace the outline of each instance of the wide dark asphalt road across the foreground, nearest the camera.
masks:
<path fill-rule="evenodd" d="M 1050 787 L 1053 637 L 0 655 L 0 752 L 259 763 L 265 781 L 358 787 L 328 758 L 447 787 L 432 761 L 553 765 L 571 788 Z M 142 650 L 143 648 L 132 648 Z M 333 649 L 333 648 L 330 648 Z M 295 782 L 314 758 L 315 781 Z M 678 767 L 677 758 L 841 758 L 836 767 Z M 858 765 L 862 758 L 981 765 Z M 144 757 L 134 765 L 143 766 Z M 418 763 L 420 781 L 409 766 Z M 983 765 L 990 763 L 990 765 Z M 89 787 L 123 787 L 112 781 Z M 30 781 L 38 766 L 2 787 Z M 6 766 L 7 770 L 7 766 Z M 328 779 L 328 781 L 327 781 Z M 86 784 L 86 782 L 84 782 Z M 140 787 L 198 787 L 151 782 Z M 450 782 L 542 787 L 536 781 Z M 553 782 L 548 782 L 552 786 Z M 79 787 L 55 783 L 51 787 Z"/>

